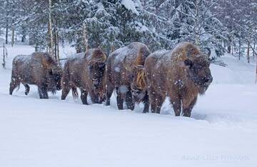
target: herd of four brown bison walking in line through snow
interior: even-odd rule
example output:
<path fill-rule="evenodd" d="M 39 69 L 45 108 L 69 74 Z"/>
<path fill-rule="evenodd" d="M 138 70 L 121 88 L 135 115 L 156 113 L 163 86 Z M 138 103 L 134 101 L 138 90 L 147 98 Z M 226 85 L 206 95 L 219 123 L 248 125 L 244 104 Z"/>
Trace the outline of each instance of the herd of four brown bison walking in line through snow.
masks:
<path fill-rule="evenodd" d="M 209 53 L 210 54 L 210 53 Z M 182 42 L 172 50 L 151 53 L 145 44 L 133 42 L 106 56 L 101 49 L 89 49 L 84 54 L 70 57 L 64 69 L 48 53 L 35 52 L 14 58 L 10 91 L 22 83 L 25 94 L 29 84 L 38 86 L 39 97 L 48 98 L 48 91 L 62 90 L 64 100 L 69 91 L 88 104 L 110 105 L 116 90 L 118 108 L 134 109 L 143 103 L 143 113 L 160 113 L 166 97 L 176 116 L 191 116 L 198 94 L 203 94 L 212 82 L 210 60 L 197 46 Z M 182 114 L 181 114 L 182 111 Z"/>

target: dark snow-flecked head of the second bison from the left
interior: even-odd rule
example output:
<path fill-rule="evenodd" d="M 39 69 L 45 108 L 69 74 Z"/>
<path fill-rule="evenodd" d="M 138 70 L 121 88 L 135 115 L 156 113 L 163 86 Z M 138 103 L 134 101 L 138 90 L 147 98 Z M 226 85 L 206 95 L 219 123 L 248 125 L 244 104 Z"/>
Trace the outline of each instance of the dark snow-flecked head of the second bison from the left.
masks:
<path fill-rule="evenodd" d="M 106 64 L 104 62 L 89 64 L 89 76 L 95 89 L 102 88 L 104 84 L 105 67 Z"/>

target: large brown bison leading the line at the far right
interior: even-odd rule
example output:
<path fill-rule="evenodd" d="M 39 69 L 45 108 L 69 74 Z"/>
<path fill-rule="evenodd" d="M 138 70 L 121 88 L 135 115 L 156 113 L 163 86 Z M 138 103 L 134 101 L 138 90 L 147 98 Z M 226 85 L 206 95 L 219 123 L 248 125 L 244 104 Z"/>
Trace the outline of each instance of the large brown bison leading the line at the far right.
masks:
<path fill-rule="evenodd" d="M 197 46 L 183 42 L 172 51 L 156 51 L 148 56 L 145 66 L 137 69 L 141 75 L 133 83 L 141 82 L 138 91 L 146 91 L 148 87 L 151 112 L 160 113 L 168 96 L 176 116 L 180 116 L 182 108 L 183 116 L 190 117 L 198 93 L 202 95 L 212 82 L 209 66 L 206 54 Z"/>

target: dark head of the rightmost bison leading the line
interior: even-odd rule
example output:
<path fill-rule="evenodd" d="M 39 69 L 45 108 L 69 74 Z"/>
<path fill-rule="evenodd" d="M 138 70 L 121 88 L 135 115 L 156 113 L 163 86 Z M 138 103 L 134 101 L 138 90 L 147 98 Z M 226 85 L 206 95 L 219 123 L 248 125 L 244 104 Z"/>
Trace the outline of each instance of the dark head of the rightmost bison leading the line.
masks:
<path fill-rule="evenodd" d="M 203 94 L 213 81 L 210 69 L 211 61 L 208 56 L 205 54 L 198 55 L 191 59 L 186 59 L 184 63 L 188 67 L 188 78 L 196 84 L 199 93 Z"/>

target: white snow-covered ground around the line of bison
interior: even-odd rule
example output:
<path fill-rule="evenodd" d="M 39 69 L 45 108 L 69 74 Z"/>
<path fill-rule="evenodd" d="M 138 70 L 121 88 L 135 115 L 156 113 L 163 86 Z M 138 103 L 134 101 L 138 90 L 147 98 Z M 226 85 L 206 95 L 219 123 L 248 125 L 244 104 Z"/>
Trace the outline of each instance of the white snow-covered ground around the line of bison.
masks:
<path fill-rule="evenodd" d="M 21 85 L 9 95 L 11 61 L 31 54 L 30 46 L 8 46 L 0 67 L 1 167 L 178 167 L 257 166 L 257 86 L 255 67 L 231 55 L 227 67 L 211 65 L 213 83 L 200 96 L 191 118 L 175 117 L 167 103 L 162 114 L 84 106 L 61 92 L 41 100 L 36 86 L 28 96 Z M 62 51 L 62 55 L 75 52 Z"/>

